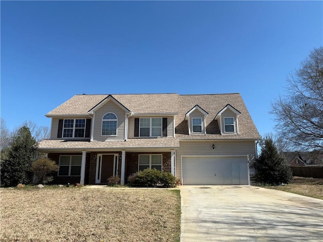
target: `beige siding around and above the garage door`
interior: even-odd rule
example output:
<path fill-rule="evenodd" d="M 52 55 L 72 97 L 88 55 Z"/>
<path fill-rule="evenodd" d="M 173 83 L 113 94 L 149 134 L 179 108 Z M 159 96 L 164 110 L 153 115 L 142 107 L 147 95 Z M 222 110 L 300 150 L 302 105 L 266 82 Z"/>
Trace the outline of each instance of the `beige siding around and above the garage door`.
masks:
<path fill-rule="evenodd" d="M 212 144 L 215 148 L 212 149 Z M 254 141 L 180 141 L 180 148 L 176 150 L 176 177 L 182 177 L 182 160 L 185 155 L 195 156 L 230 156 L 249 155 L 249 166 L 253 166 L 255 159 Z"/>

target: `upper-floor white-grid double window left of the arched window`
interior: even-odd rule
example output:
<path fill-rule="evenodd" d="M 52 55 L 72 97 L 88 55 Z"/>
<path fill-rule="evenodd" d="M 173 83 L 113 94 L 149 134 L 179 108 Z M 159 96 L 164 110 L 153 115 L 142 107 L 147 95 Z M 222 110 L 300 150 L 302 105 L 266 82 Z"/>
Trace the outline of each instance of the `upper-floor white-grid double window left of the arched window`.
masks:
<path fill-rule="evenodd" d="M 64 119 L 63 138 L 84 138 L 85 119 Z"/>

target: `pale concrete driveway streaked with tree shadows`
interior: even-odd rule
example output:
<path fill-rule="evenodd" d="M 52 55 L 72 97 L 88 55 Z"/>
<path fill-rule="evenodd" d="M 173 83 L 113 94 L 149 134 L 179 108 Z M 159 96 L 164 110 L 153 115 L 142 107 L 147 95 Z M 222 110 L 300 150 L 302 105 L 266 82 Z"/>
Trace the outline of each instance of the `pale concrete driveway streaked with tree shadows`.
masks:
<path fill-rule="evenodd" d="M 181 241 L 323 241 L 323 200 L 252 186 L 182 186 Z"/>

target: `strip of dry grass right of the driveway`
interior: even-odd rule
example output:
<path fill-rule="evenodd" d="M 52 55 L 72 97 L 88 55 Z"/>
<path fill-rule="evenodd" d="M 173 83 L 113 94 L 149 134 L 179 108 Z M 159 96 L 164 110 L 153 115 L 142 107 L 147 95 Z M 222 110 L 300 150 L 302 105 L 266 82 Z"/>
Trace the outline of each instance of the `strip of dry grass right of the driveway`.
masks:
<path fill-rule="evenodd" d="M 289 193 L 323 199 L 323 179 L 294 176 L 290 184 L 285 186 L 266 186 Z"/>

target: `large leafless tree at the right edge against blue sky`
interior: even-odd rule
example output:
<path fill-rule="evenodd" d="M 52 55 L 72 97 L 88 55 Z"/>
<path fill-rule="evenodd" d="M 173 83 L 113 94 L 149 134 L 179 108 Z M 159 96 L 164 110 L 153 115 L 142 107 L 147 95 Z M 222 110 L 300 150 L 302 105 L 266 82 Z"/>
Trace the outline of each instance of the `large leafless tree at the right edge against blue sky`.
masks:
<path fill-rule="evenodd" d="M 288 94 L 272 104 L 277 131 L 290 150 L 323 150 L 323 47 L 288 78 Z"/>

